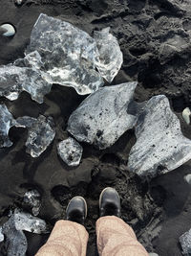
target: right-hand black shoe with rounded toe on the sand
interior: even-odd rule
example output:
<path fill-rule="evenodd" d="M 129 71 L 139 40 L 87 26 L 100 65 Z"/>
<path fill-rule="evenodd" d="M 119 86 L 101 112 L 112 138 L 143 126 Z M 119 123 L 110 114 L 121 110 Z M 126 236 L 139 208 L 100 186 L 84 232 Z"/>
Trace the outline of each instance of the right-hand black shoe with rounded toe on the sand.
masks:
<path fill-rule="evenodd" d="M 115 215 L 120 217 L 120 198 L 116 189 L 105 188 L 99 197 L 100 217 Z"/>

